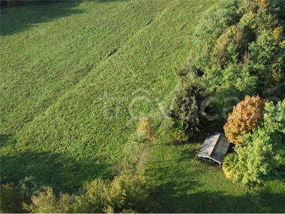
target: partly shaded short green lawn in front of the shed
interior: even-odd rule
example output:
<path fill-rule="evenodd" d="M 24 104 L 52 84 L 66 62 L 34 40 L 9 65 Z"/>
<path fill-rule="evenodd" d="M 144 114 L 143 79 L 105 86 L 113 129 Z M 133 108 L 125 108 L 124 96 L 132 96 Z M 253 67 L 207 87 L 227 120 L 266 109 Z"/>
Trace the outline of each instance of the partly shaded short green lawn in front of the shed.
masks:
<path fill-rule="evenodd" d="M 218 165 L 200 161 L 197 139 L 174 145 L 171 136 L 160 133 L 151 148 L 146 175 L 156 191 L 156 212 L 164 213 L 282 213 L 284 175 L 262 188 L 247 188 L 225 178 Z M 283 157 L 284 158 L 284 157 Z"/>

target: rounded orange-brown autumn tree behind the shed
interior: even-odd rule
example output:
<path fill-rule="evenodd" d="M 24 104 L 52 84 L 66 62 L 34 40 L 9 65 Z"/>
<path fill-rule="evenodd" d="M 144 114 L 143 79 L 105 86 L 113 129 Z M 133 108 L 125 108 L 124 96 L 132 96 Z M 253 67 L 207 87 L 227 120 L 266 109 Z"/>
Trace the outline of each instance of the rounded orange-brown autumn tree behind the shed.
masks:
<path fill-rule="evenodd" d="M 224 133 L 230 142 L 236 146 L 242 145 L 242 136 L 252 133 L 263 119 L 264 104 L 264 99 L 259 96 L 246 96 L 244 101 L 234 106 L 224 125 Z"/>

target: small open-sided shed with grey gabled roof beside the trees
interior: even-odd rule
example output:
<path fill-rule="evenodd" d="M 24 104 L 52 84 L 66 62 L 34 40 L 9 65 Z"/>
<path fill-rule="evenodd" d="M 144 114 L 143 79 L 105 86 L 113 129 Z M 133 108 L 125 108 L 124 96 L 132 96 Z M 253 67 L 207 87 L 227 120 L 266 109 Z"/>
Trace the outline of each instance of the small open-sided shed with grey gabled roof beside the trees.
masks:
<path fill-rule="evenodd" d="M 199 158 L 215 161 L 221 167 L 227 155 L 230 143 L 223 133 L 215 132 L 207 136 L 198 153 Z"/>

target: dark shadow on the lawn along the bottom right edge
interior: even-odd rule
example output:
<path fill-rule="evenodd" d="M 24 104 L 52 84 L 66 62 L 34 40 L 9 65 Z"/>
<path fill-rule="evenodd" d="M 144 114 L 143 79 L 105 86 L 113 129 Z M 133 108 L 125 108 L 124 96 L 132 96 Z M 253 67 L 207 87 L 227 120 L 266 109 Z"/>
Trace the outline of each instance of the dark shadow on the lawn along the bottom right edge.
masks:
<path fill-rule="evenodd" d="M 282 213 L 285 193 L 263 191 L 257 194 L 232 196 L 222 192 L 187 193 L 195 187 L 189 182 L 165 183 L 152 198 L 157 213 Z"/>

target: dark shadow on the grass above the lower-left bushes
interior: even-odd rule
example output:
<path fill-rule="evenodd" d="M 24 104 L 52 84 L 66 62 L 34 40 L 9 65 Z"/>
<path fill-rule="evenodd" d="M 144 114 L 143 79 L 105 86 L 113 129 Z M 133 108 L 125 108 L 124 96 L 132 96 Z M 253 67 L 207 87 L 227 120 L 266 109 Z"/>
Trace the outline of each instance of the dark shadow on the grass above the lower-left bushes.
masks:
<path fill-rule="evenodd" d="M 56 192 L 63 190 L 76 192 L 83 183 L 97 178 L 110 168 L 103 161 L 93 160 L 78 163 L 74 158 L 46 152 L 25 152 L 15 156 L 1 157 L 1 180 L 15 182 L 33 176 L 43 185 L 53 187 Z"/>

